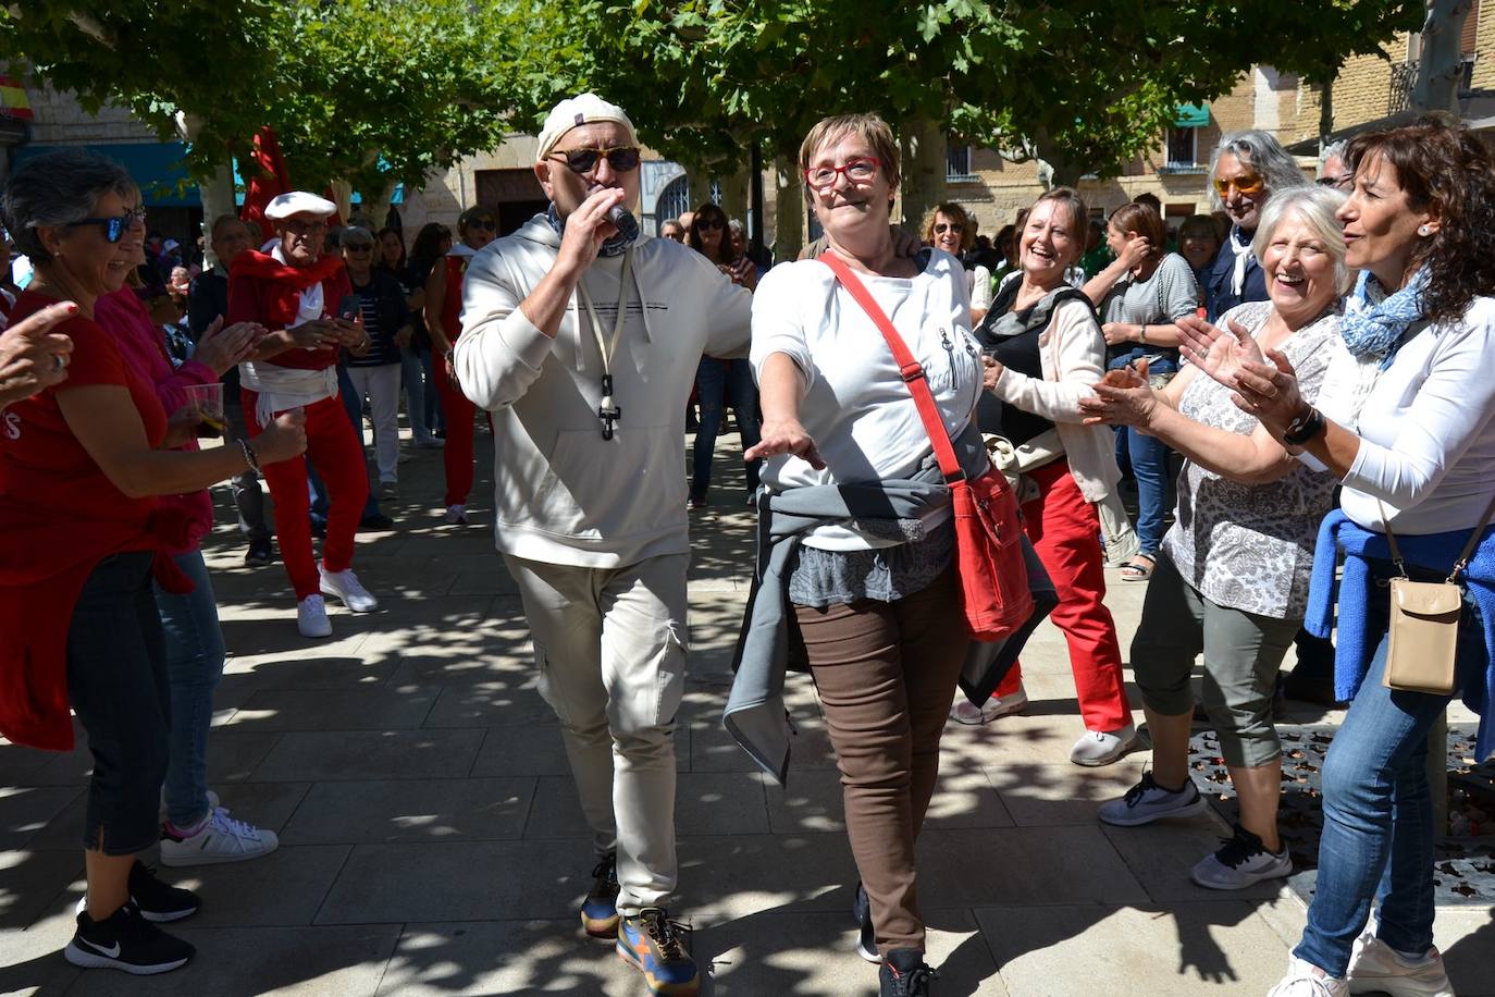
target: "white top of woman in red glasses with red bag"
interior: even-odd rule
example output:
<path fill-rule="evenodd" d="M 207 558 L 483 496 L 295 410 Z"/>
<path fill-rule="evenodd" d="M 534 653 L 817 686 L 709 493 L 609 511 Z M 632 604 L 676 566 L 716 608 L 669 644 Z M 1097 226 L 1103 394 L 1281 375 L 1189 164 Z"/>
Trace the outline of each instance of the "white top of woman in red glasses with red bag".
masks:
<path fill-rule="evenodd" d="M 912 278 L 858 277 L 924 368 L 945 426 L 958 436 L 981 393 L 981 348 L 970 336 L 966 269 L 939 250 L 921 253 L 919 260 L 924 271 Z M 762 471 L 770 486 L 907 478 L 933 451 L 887 341 L 824 263 L 783 263 L 758 284 L 752 365 L 759 378 L 774 353 L 786 354 L 804 372 L 809 390 L 800 402 L 800 422 L 827 469 L 816 471 L 798 457 L 770 457 Z M 940 510 L 927 525 L 948 514 Z M 819 526 L 804 543 L 822 550 L 869 550 L 896 541 Z"/>

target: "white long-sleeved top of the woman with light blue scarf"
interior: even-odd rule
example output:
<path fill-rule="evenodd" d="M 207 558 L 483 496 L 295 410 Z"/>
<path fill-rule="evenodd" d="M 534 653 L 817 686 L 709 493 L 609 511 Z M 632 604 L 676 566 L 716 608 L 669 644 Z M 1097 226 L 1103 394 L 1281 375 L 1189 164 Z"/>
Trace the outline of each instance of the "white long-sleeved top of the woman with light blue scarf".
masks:
<path fill-rule="evenodd" d="M 1495 495 L 1495 297 L 1407 341 L 1360 407 L 1346 514 L 1399 534 L 1473 529 Z"/>

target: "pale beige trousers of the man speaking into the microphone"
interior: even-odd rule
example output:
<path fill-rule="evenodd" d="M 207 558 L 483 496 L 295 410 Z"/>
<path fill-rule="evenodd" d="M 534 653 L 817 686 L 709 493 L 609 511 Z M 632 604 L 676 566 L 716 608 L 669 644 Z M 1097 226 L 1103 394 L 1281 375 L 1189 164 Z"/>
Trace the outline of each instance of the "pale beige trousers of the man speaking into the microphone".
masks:
<path fill-rule="evenodd" d="M 598 856 L 617 852 L 617 909 L 667 906 L 674 855 L 674 716 L 685 694 L 689 555 L 579 568 L 505 555 L 561 719 Z"/>

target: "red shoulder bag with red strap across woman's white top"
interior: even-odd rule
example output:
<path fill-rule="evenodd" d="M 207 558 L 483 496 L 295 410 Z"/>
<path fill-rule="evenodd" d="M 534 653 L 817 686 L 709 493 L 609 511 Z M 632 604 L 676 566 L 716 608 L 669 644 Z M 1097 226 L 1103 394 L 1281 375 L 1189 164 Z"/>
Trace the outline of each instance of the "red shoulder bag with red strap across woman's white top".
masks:
<path fill-rule="evenodd" d="M 898 363 L 898 374 L 909 386 L 913 404 L 919 410 L 924 432 L 934 445 L 934 459 L 945 475 L 955 511 L 955 562 L 966 629 L 975 640 L 1002 640 L 1033 614 L 1033 595 L 1023 562 L 1023 520 L 1017 496 L 1006 477 L 990 462 L 987 472 L 979 478 L 966 475 L 924 378 L 924 368 L 909 353 L 903 336 L 851 268 L 831 254 L 821 256 L 819 260 L 831 268 L 836 280 L 888 341 L 893 359 Z"/>

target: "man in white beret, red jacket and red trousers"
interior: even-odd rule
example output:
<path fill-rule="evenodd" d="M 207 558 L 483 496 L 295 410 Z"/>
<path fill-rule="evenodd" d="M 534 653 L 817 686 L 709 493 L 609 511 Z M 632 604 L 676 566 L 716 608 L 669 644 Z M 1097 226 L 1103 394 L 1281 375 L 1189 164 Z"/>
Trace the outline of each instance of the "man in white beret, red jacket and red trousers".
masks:
<path fill-rule="evenodd" d="M 275 224 L 269 253 L 245 250 L 229 271 L 227 323 L 257 321 L 269 335 L 254 359 L 239 365 L 241 398 L 250 439 L 292 408 L 306 413 L 306 459 L 330 498 L 327 537 L 318 565 L 311 547 L 306 474 L 299 460 L 260 469 L 275 502 L 275 537 L 281 562 L 296 590 L 296 626 L 303 637 L 330 637 L 323 595 L 342 599 L 354 613 L 378 601 L 353 574 L 353 543 L 368 498 L 363 444 L 338 401 L 338 350 L 362 348 L 362 326 L 338 317 L 353 293 L 341 257 L 321 254 L 327 218 L 336 205 L 306 191 L 271 200 L 265 217 Z"/>

